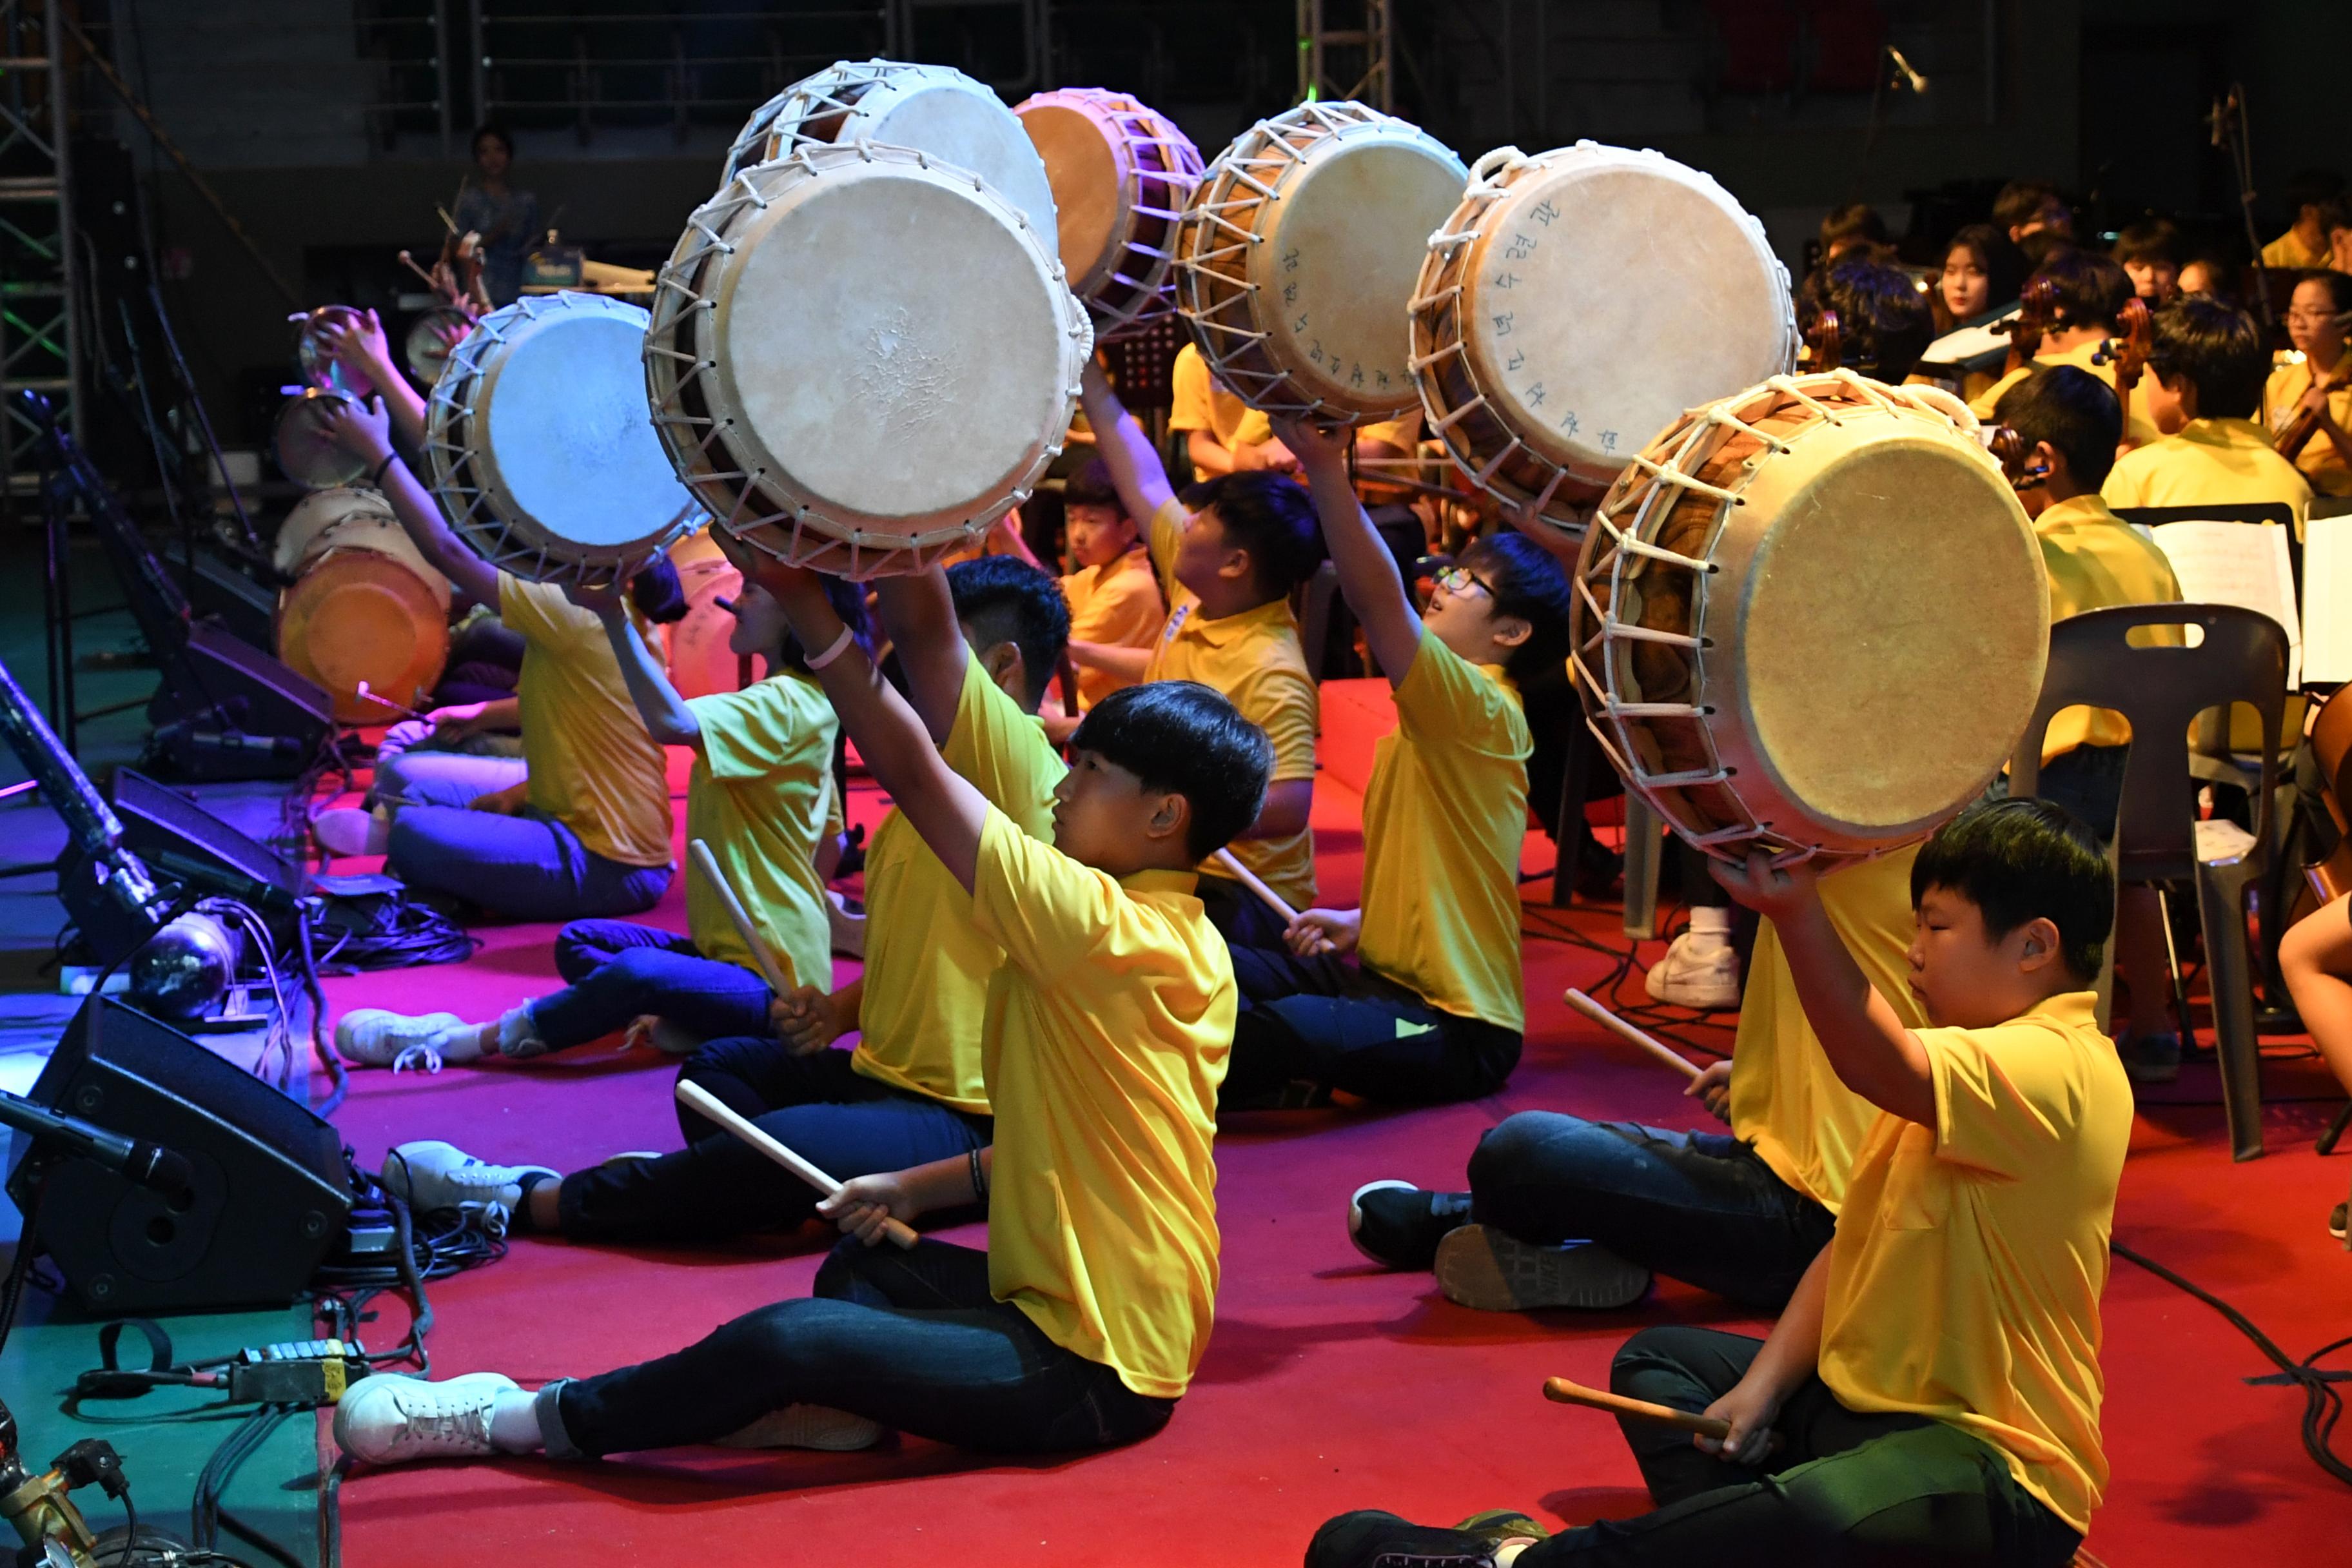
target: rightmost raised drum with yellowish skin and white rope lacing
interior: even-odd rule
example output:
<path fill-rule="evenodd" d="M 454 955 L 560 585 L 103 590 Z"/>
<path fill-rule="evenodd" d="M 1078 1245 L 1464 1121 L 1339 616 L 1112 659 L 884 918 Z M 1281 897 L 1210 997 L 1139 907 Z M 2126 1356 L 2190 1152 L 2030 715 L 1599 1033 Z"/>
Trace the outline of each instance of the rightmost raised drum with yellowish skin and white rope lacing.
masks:
<path fill-rule="evenodd" d="M 1931 832 L 2042 693 L 2042 550 L 1976 421 L 1929 388 L 1773 376 L 1682 416 L 1602 501 L 1576 576 L 1592 733 L 1724 860 Z"/>

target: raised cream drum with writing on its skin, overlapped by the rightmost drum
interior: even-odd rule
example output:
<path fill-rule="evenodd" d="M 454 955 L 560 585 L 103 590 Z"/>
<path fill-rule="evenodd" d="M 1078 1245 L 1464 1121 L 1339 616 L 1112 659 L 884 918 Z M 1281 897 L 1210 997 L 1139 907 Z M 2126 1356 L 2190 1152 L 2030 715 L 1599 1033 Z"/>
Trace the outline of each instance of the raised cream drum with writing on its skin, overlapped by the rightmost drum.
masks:
<path fill-rule="evenodd" d="M 1486 153 L 1411 308 L 1430 430 L 1508 508 L 1581 531 L 1651 433 L 1797 362 L 1764 226 L 1658 153 Z"/>

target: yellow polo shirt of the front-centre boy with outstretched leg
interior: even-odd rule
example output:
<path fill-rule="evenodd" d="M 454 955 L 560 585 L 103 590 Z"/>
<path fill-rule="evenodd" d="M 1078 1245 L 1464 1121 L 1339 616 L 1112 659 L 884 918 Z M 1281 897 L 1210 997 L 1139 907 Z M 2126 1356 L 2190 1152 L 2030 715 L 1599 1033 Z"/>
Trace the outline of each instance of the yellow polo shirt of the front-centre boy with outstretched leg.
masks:
<path fill-rule="evenodd" d="M 1232 954 L 1192 872 L 1112 879 L 988 811 L 974 924 L 1004 947 L 983 1058 L 988 1291 L 1152 1399 L 1216 1316 L 1216 1088 Z"/>

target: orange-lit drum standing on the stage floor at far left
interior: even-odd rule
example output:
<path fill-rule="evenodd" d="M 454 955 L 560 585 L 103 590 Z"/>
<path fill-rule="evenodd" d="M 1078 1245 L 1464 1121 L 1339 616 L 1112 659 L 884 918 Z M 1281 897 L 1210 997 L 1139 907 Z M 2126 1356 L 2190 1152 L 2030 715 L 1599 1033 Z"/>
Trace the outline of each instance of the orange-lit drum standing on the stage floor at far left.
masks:
<path fill-rule="evenodd" d="M 405 715 L 360 696 L 423 708 L 449 663 L 449 578 L 433 571 L 390 503 L 372 489 L 303 496 L 270 562 L 294 576 L 278 595 L 278 658 L 334 696 L 343 724 Z"/>

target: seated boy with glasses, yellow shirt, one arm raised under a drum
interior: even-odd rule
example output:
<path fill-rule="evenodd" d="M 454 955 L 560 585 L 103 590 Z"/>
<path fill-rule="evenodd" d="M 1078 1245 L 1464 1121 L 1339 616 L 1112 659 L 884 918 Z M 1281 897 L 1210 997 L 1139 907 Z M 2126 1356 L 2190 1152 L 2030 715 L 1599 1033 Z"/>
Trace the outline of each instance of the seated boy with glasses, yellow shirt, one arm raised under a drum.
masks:
<path fill-rule="evenodd" d="M 1242 1018 L 1225 1107 L 1341 1088 L 1388 1105 L 1494 1093 L 1519 1063 L 1519 691 L 1566 686 L 1569 578 L 1524 534 L 1494 534 L 1414 611 L 1348 482 L 1348 435 L 1279 423 L 1322 515 L 1341 590 L 1397 696 L 1364 790 L 1359 910 L 1303 910 L 1279 947 L 1235 943 Z M 1355 961 L 1348 961 L 1355 959 Z"/>

